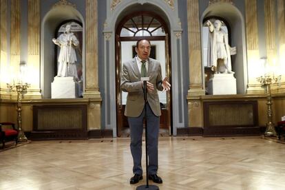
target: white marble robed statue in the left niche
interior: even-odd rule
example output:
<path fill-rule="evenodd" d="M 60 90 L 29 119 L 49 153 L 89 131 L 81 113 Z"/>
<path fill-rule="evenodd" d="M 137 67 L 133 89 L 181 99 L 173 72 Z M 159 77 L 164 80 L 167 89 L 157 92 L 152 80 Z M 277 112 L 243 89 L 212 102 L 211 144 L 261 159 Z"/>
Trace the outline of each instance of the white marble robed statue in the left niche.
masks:
<path fill-rule="evenodd" d="M 52 39 L 54 44 L 59 45 L 61 50 L 59 52 L 59 67 L 57 70 L 57 76 L 74 76 L 76 81 L 78 81 L 78 75 L 76 70 L 76 53 L 74 47 L 79 45 L 76 36 L 70 32 L 71 24 L 65 26 L 65 32 L 61 34 L 57 39 Z"/>

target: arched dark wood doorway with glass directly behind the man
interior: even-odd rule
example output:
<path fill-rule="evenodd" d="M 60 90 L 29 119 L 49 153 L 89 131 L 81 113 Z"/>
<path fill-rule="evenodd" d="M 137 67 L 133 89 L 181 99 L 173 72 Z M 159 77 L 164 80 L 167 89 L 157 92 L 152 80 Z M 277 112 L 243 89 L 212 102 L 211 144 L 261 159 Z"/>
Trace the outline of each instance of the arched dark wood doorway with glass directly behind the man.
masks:
<path fill-rule="evenodd" d="M 128 131 L 127 117 L 124 116 L 127 93 L 120 90 L 120 78 L 123 63 L 135 56 L 135 45 L 138 39 L 148 39 L 151 42 L 151 55 L 160 61 L 162 78 L 169 77 L 171 81 L 170 39 L 169 28 L 158 14 L 148 11 L 133 12 L 125 16 L 116 28 L 116 126 L 117 136 Z M 160 131 L 171 134 L 171 93 L 159 93 Z"/>

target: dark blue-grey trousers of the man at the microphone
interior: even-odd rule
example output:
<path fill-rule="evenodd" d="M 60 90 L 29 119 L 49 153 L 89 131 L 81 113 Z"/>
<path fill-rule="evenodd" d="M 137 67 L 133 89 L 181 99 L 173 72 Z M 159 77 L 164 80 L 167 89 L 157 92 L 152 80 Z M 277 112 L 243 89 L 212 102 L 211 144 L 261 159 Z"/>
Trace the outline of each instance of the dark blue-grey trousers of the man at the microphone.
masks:
<path fill-rule="evenodd" d="M 149 154 L 149 174 L 155 174 L 158 171 L 158 132 L 159 132 L 159 116 L 152 112 L 151 107 L 147 103 L 147 144 Z M 133 156 L 134 167 L 133 173 L 142 175 L 142 132 L 143 118 L 145 109 L 138 117 L 128 117 L 129 128 L 131 131 L 131 156 Z"/>

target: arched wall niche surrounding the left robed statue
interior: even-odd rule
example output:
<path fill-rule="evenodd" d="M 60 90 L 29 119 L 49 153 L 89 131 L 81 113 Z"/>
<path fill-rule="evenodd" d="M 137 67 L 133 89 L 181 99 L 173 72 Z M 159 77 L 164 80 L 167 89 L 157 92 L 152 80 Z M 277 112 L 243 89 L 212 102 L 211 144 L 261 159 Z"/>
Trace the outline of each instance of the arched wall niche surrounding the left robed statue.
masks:
<path fill-rule="evenodd" d="M 68 21 L 74 21 L 82 24 L 82 74 L 83 74 L 83 88 L 85 78 L 85 22 L 83 16 L 76 8 L 70 5 L 53 6 L 41 24 L 41 89 L 43 98 L 51 98 L 51 83 L 56 76 L 56 59 L 55 45 L 52 39 L 56 37 L 59 26 Z M 82 89 L 84 91 L 84 89 Z"/>

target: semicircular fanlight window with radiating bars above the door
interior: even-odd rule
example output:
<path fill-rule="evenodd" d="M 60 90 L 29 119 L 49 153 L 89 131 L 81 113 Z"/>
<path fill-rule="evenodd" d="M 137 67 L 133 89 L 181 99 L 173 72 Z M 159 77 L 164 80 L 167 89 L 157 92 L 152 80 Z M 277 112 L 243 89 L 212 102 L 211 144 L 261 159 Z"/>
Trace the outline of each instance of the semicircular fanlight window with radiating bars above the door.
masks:
<path fill-rule="evenodd" d="M 163 25 L 154 16 L 141 13 L 125 21 L 120 36 L 165 36 Z"/>

